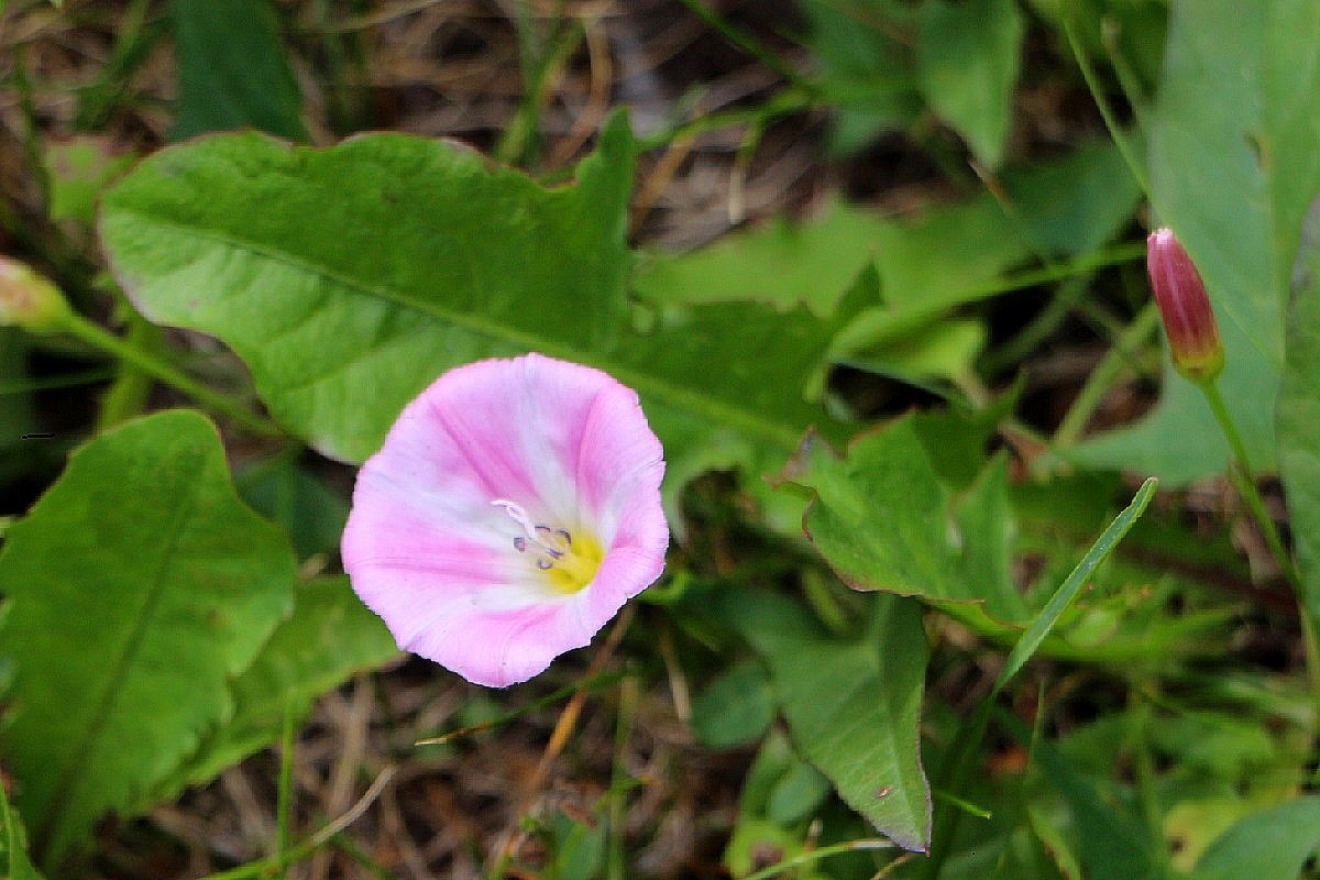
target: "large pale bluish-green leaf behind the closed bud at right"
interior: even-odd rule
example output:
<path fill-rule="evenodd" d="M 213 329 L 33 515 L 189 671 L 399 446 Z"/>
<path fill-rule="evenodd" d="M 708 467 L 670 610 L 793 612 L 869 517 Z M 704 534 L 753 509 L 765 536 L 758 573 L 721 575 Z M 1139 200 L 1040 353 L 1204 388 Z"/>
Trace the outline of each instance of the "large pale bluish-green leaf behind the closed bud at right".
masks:
<path fill-rule="evenodd" d="M 1320 191 L 1320 7 L 1180 0 L 1150 115 L 1151 203 L 1205 278 L 1228 363 L 1220 379 L 1251 463 L 1275 467 L 1283 311 L 1305 206 Z M 1166 363 L 1159 405 L 1077 460 L 1175 484 L 1222 472 L 1200 392 Z"/>

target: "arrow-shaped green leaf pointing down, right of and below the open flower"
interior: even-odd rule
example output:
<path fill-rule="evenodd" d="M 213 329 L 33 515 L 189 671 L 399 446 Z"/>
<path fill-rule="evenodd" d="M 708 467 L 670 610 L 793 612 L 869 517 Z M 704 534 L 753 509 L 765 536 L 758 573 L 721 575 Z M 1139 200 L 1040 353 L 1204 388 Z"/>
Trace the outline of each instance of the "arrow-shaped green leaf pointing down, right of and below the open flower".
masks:
<path fill-rule="evenodd" d="M 771 670 L 793 743 L 850 807 L 907 850 L 931 842 L 921 772 L 921 694 L 929 646 L 920 606 L 876 596 L 866 635 L 829 639 L 801 606 L 764 591 L 725 590 L 721 615 Z"/>

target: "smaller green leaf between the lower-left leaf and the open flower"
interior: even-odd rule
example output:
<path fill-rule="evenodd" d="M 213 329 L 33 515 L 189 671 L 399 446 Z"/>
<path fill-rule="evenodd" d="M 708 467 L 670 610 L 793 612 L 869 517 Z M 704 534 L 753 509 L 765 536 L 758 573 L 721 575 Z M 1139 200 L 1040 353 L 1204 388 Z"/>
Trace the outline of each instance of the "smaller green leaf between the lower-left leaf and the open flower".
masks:
<path fill-rule="evenodd" d="M 158 786 L 154 800 L 210 781 L 279 739 L 285 711 L 302 718 L 321 694 L 399 656 L 384 621 L 362 604 L 347 578 L 298 584 L 293 613 L 234 681 L 232 716 Z"/>

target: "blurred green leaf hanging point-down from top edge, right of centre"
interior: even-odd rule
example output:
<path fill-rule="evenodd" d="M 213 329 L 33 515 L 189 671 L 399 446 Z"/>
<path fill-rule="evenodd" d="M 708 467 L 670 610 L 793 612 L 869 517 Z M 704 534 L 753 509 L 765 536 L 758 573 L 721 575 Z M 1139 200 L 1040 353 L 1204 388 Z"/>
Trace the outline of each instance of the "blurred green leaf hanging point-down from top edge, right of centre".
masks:
<path fill-rule="evenodd" d="M 921 92 L 989 168 L 1003 156 L 1024 30 L 1015 0 L 931 0 L 921 7 Z"/>

